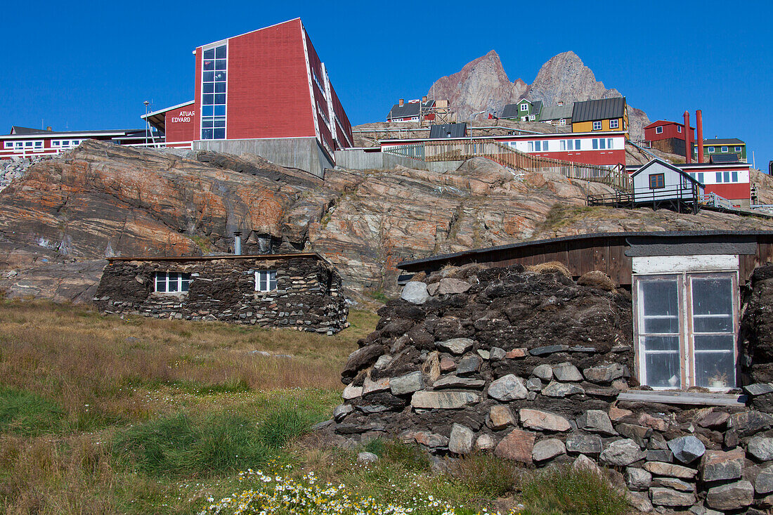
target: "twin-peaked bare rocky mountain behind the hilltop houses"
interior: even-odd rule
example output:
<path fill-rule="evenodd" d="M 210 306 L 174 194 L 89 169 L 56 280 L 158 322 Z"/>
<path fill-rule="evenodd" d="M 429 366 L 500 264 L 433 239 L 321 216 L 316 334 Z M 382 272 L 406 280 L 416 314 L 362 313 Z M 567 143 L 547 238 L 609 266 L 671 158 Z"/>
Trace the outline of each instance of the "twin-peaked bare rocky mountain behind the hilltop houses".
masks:
<path fill-rule="evenodd" d="M 478 111 L 501 111 L 505 104 L 523 97 L 543 101 L 545 105 L 557 105 L 558 101 L 570 103 L 622 96 L 618 90 L 608 89 L 596 80 L 593 71 L 571 51 L 560 53 L 543 64 L 532 84 L 527 86 L 521 79 L 510 83 L 494 50 L 465 64 L 461 71 L 438 79 L 430 88 L 430 95 L 448 98 L 460 121 Z M 641 109 L 628 106 L 628 122 L 631 137 L 636 140 L 644 136 L 643 129 L 649 124 L 649 118 Z"/>

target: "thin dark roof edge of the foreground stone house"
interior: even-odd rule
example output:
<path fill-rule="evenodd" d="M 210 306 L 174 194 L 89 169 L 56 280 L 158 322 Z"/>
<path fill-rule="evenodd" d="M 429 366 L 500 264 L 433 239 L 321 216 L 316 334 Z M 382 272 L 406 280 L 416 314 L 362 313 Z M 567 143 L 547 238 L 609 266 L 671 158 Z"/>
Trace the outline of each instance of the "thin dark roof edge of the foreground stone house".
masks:
<path fill-rule="evenodd" d="M 416 264 L 428 264 L 438 261 L 445 261 L 453 257 L 461 256 L 475 256 L 478 255 L 485 259 L 485 254 L 495 251 L 506 251 L 511 248 L 518 247 L 537 247 L 540 245 L 553 244 L 560 241 L 572 241 L 572 240 L 591 240 L 594 238 L 608 238 L 608 237 L 652 237 L 652 238 L 683 238 L 683 237 L 739 237 L 739 236 L 768 236 L 773 237 L 773 230 L 657 230 L 657 231 L 630 231 L 630 232 L 617 232 L 617 233 L 589 233 L 589 234 L 575 234 L 573 236 L 563 236 L 557 238 L 549 238 L 546 240 L 528 240 L 519 241 L 514 244 L 499 245 L 497 247 L 484 247 L 476 248 L 469 251 L 455 252 L 453 254 L 438 254 L 435 256 L 424 257 L 422 259 L 413 259 L 408 261 L 400 261 L 397 264 L 397 268 L 410 268 Z"/>

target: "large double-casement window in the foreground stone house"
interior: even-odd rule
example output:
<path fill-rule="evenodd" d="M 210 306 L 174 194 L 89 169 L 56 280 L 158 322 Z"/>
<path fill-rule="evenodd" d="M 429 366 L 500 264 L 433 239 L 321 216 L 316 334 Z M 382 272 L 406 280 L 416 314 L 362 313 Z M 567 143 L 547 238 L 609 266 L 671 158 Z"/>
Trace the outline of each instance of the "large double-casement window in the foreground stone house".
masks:
<path fill-rule="evenodd" d="M 736 283 L 734 273 L 634 275 L 642 385 L 735 387 Z"/>

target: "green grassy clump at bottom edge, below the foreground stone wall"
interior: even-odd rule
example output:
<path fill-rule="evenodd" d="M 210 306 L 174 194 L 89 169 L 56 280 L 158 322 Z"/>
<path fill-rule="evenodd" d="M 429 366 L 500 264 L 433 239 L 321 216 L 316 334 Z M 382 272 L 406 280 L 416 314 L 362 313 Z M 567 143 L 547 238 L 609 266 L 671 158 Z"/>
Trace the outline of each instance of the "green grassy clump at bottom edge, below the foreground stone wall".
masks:
<path fill-rule="evenodd" d="M 526 513 L 564 515 L 622 515 L 625 497 L 590 469 L 555 466 L 521 479 Z"/>

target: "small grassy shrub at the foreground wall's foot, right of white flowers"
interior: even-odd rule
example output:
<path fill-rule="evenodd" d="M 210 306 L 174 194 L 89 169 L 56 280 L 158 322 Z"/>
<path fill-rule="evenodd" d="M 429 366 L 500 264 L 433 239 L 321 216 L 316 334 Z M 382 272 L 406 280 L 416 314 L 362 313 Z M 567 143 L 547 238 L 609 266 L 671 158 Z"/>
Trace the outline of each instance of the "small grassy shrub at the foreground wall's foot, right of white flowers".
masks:
<path fill-rule="evenodd" d="M 451 463 L 449 472 L 471 492 L 499 497 L 516 486 L 515 463 L 489 454 L 472 454 Z"/>

